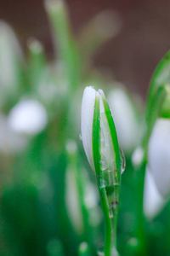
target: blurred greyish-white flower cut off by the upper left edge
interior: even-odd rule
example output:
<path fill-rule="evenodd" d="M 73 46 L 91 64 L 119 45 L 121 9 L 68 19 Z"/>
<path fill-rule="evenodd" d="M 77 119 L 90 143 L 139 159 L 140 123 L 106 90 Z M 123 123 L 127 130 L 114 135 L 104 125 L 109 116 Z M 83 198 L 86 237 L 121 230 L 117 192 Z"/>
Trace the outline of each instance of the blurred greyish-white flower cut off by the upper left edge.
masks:
<path fill-rule="evenodd" d="M 20 44 L 5 22 L 0 21 L 0 90 L 1 102 L 17 94 L 20 81 L 20 65 L 23 65 L 23 55 Z"/>

